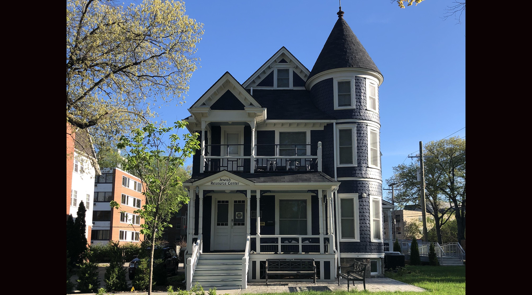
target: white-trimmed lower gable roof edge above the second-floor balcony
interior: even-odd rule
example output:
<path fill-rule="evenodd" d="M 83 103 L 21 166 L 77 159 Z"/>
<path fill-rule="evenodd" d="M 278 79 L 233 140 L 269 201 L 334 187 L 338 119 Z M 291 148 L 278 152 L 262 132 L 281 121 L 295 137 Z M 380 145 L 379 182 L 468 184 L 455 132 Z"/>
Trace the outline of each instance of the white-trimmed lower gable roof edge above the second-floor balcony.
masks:
<path fill-rule="evenodd" d="M 232 88 L 226 88 L 227 86 L 230 86 L 229 84 L 226 84 L 226 82 L 232 84 Z M 226 86 L 224 86 L 223 84 L 226 84 Z M 260 105 L 260 103 L 258 101 L 256 101 L 253 96 L 247 92 L 244 87 L 242 86 L 242 84 L 240 84 L 236 79 L 235 77 L 233 77 L 231 75 L 231 73 L 229 72 L 225 72 L 221 77 L 220 79 L 218 79 L 216 82 L 214 82 L 214 84 L 212 84 L 212 86 L 207 89 L 207 91 L 205 91 L 205 93 L 202 94 L 202 96 L 200 98 L 198 98 L 196 100 L 196 102 L 193 103 L 193 105 L 190 107 L 191 109 L 192 108 L 196 108 L 196 107 L 199 107 L 201 105 L 203 105 L 204 102 L 207 102 L 207 101 L 212 101 L 213 98 L 212 96 L 218 96 L 219 92 L 218 90 L 221 89 L 220 91 L 223 91 L 223 93 L 226 93 L 227 90 L 234 90 L 235 92 L 237 92 L 238 94 L 242 94 L 242 97 L 243 98 L 240 98 L 239 96 L 240 95 L 237 95 L 235 96 L 240 102 L 242 102 L 244 104 L 245 107 L 247 107 L 249 105 L 249 103 L 244 103 L 243 101 L 249 101 L 251 103 L 253 103 L 253 105 L 255 107 L 262 107 Z M 226 90 L 226 91 L 224 91 Z M 232 91 L 231 91 L 232 92 Z M 222 94 L 223 94 L 222 93 Z M 221 97 L 222 95 L 220 95 Z M 217 98 L 219 99 L 219 98 Z M 213 101 L 211 103 L 211 105 L 215 103 L 215 101 Z"/>

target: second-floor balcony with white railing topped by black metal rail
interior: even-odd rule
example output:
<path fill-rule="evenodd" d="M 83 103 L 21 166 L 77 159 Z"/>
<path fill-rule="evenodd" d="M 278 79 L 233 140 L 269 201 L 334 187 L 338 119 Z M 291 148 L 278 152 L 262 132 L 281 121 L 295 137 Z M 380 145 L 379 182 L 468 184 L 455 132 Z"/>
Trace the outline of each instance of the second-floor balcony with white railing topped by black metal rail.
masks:
<path fill-rule="evenodd" d="M 244 144 L 205 144 L 201 172 L 321 172 L 321 142 L 317 144 L 315 155 L 311 154 L 311 144 L 255 144 L 251 155 L 240 155 L 245 152 L 245 147 Z"/>

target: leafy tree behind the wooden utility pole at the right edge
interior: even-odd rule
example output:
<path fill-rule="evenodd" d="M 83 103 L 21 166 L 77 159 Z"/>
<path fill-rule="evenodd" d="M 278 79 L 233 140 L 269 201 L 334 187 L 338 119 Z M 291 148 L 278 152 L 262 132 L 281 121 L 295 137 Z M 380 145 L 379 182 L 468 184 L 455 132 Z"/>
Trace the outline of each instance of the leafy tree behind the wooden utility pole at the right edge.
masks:
<path fill-rule="evenodd" d="M 425 158 L 425 199 L 427 213 L 434 218 L 436 236 L 442 244 L 441 229 L 450 220 L 451 213 L 457 220 L 457 238 L 464 239 L 465 232 L 465 140 L 451 137 L 429 142 L 423 147 Z M 418 204 L 421 184 L 417 171 L 419 159 L 410 164 L 393 167 L 394 175 L 386 179 L 395 185 L 395 203 Z M 388 195 L 390 196 L 390 195 Z M 421 208 L 418 205 L 419 208 Z M 460 220 L 460 221 L 459 221 Z M 427 219 L 427 222 L 429 219 Z"/>

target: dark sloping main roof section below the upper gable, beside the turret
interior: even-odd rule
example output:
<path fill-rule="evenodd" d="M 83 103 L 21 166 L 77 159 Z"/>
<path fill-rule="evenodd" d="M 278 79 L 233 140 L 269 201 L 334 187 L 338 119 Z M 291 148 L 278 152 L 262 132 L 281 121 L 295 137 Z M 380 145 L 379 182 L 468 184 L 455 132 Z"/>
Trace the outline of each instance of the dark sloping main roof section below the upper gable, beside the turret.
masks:
<path fill-rule="evenodd" d="M 253 89 L 253 98 L 267 108 L 270 120 L 334 120 L 312 102 L 308 90 Z"/>

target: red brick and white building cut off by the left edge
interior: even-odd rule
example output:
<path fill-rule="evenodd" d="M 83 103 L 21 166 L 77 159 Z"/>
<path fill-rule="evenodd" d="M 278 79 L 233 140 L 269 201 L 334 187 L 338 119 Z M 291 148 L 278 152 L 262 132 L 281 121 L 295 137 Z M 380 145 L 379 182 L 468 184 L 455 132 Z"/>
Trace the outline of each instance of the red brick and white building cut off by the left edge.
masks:
<path fill-rule="evenodd" d="M 85 236 L 91 239 L 94 194 L 94 179 L 99 168 L 94 167 L 96 154 L 90 135 L 86 131 L 66 125 L 66 218 L 70 214 L 77 218 L 79 203 L 83 201 L 87 210 Z"/>

